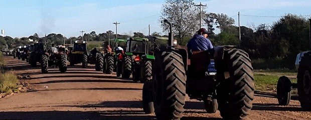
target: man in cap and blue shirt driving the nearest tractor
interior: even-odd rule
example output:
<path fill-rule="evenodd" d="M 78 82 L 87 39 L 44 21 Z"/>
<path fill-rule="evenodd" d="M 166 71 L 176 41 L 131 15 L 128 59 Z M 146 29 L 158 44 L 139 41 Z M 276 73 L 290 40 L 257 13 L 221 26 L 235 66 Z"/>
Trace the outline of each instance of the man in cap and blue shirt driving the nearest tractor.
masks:
<path fill-rule="evenodd" d="M 191 38 L 187 44 L 188 51 L 192 53 L 193 51 L 208 51 L 211 56 L 215 53 L 215 48 L 208 35 L 211 32 L 207 31 L 205 28 L 200 28 L 198 33 Z"/>

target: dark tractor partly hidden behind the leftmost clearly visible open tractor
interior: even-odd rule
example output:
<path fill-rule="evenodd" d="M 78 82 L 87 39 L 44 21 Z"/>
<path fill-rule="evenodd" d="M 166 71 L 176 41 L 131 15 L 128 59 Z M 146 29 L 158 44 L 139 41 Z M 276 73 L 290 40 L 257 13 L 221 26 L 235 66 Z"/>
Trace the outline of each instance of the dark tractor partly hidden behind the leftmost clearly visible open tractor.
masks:
<path fill-rule="evenodd" d="M 41 63 L 41 56 L 46 52 L 46 45 L 42 42 L 34 43 L 34 50 L 30 53 L 29 62 L 32 67 L 37 65 L 37 62 Z"/>

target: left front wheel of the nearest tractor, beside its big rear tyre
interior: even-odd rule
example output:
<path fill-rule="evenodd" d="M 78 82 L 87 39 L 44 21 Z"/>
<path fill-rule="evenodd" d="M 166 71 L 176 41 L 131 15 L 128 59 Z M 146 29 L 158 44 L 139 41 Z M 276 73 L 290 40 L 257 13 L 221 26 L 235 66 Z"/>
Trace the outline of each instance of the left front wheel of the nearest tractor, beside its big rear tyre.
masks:
<path fill-rule="evenodd" d="M 142 86 L 142 108 L 146 114 L 154 112 L 152 85 L 153 81 L 147 80 Z"/>

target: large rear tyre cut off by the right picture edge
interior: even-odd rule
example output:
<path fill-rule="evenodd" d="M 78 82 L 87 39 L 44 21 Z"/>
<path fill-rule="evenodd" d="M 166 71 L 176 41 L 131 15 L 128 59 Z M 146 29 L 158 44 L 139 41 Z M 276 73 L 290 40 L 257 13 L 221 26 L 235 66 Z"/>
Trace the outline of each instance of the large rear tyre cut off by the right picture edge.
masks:
<path fill-rule="evenodd" d="M 297 91 L 300 106 L 303 110 L 311 111 L 311 52 L 301 57 L 297 74 Z"/>

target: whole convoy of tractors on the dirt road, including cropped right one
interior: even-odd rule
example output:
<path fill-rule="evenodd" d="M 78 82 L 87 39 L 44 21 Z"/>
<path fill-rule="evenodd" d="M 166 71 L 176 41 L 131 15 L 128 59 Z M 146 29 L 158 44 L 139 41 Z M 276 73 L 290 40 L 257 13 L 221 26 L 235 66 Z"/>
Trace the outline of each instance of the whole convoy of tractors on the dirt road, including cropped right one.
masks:
<path fill-rule="evenodd" d="M 218 109 L 225 119 L 244 119 L 250 114 L 254 100 L 253 67 L 248 54 L 234 46 L 215 46 L 214 55 L 208 51 L 190 51 L 174 43 L 172 24 L 169 37 L 149 36 L 128 39 L 109 39 L 109 45 L 87 50 L 87 42 L 58 46 L 42 42 L 18 46 L 13 57 L 26 60 L 42 73 L 50 67 L 67 71 L 67 64 L 95 64 L 96 71 L 116 72 L 117 77 L 131 78 L 143 83 L 142 106 L 145 113 L 156 113 L 157 119 L 180 119 L 183 116 L 186 94 L 202 100 L 208 113 Z M 158 40 L 167 40 L 159 49 Z M 186 44 L 187 45 L 187 44 Z M 281 76 L 277 83 L 280 105 L 288 105 L 291 89 L 298 90 L 301 107 L 311 110 L 311 51 L 297 55 L 297 83 Z M 68 63 L 69 61 L 69 63 Z M 38 65 L 37 63 L 40 63 Z M 131 76 L 131 77 L 130 77 Z"/>

